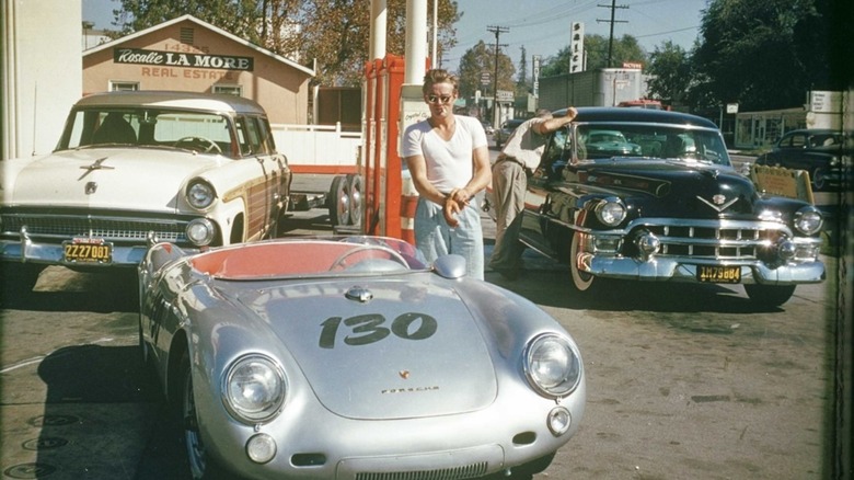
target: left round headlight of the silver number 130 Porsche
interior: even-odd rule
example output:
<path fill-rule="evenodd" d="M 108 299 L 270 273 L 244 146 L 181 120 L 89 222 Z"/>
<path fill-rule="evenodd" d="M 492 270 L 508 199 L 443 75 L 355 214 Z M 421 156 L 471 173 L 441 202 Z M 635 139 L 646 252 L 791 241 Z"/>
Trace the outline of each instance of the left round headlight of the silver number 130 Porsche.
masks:
<path fill-rule="evenodd" d="M 222 396 L 229 412 L 246 424 L 266 422 L 285 404 L 287 380 L 282 369 L 262 355 L 244 356 L 229 367 Z"/>

